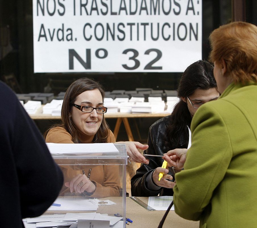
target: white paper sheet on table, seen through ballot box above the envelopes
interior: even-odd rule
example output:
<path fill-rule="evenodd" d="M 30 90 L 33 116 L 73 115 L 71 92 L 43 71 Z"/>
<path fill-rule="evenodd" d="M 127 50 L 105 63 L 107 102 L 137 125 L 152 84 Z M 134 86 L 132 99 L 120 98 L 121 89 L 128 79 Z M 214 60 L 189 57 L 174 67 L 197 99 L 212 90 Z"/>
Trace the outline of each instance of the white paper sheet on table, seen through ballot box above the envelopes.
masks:
<path fill-rule="evenodd" d="M 54 203 L 61 206 L 50 206 L 48 211 L 96 211 L 98 208 L 98 203 L 93 199 L 57 198 Z"/>

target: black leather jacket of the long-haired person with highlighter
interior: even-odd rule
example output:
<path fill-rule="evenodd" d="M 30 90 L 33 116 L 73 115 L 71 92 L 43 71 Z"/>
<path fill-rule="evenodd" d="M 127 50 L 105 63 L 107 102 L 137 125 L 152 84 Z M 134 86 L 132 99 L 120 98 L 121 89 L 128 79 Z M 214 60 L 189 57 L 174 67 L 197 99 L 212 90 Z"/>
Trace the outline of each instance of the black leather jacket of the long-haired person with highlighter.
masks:
<path fill-rule="evenodd" d="M 166 128 L 169 123 L 170 116 L 166 116 L 162 119 L 157 120 L 151 125 L 148 133 L 148 149 L 145 150 L 144 154 L 156 154 L 163 155 L 168 152 L 164 143 L 164 137 L 166 135 Z M 187 143 L 180 137 L 181 148 L 187 148 Z M 131 195 L 132 196 L 173 196 L 173 189 L 171 188 L 160 188 L 159 190 L 152 191 L 147 188 L 147 176 L 152 175 L 154 169 L 162 167 L 162 162 L 164 161 L 162 157 L 152 157 L 145 156 L 149 159 L 149 164 L 141 164 L 137 169 L 135 176 L 131 179 Z M 168 172 L 169 175 L 172 175 L 171 172 Z M 173 177 L 174 178 L 174 177 Z"/>

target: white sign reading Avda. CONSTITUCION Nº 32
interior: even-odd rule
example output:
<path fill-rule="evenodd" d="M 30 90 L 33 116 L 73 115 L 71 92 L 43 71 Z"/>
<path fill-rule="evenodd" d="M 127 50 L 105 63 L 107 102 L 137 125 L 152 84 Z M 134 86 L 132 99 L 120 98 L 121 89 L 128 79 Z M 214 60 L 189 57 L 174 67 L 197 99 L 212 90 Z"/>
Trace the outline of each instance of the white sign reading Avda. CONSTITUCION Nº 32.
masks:
<path fill-rule="evenodd" d="M 34 72 L 183 72 L 201 0 L 33 0 Z"/>

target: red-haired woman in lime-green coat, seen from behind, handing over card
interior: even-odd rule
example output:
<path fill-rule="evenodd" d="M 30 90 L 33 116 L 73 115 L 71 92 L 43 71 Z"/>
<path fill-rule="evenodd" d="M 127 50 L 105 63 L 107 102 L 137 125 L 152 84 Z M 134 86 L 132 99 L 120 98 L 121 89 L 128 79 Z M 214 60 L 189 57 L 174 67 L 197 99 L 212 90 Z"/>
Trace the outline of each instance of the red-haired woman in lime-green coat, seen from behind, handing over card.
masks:
<path fill-rule="evenodd" d="M 191 148 L 164 154 L 184 168 L 175 175 L 175 212 L 200 227 L 257 227 L 257 27 L 223 25 L 210 43 L 221 96 L 194 115 Z"/>

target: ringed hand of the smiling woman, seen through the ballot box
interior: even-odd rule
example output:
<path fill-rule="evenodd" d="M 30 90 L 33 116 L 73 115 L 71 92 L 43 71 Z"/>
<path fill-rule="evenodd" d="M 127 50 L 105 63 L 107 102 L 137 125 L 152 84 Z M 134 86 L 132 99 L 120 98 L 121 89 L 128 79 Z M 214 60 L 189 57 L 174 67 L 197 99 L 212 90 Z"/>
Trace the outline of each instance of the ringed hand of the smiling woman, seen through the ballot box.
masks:
<path fill-rule="evenodd" d="M 78 174 L 70 182 L 64 184 L 66 187 L 70 188 L 70 192 L 82 193 L 87 191 L 89 193 L 94 193 L 96 186 L 91 180 L 87 178 L 86 175 Z"/>

